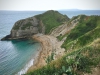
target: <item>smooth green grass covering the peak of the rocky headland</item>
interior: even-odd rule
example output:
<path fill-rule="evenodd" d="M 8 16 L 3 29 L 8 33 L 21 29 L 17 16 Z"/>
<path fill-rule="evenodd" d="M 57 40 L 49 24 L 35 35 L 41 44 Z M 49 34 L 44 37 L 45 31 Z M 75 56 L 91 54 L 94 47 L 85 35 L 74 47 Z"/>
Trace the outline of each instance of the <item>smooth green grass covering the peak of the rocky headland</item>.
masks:
<path fill-rule="evenodd" d="M 37 19 L 42 20 L 45 26 L 45 33 L 48 34 L 54 27 L 61 25 L 63 22 L 68 21 L 66 15 L 60 14 L 58 11 L 49 10 L 43 14 L 36 15 Z"/>

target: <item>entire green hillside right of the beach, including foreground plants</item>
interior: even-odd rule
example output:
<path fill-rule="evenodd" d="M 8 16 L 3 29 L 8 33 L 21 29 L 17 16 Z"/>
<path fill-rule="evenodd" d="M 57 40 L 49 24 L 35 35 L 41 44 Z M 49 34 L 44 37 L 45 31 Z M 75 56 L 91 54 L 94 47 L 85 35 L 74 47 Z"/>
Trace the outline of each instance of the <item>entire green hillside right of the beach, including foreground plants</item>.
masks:
<path fill-rule="evenodd" d="M 26 75 L 84 75 L 100 68 L 100 16 L 79 16 L 77 26 L 61 36 L 67 37 L 65 55 Z"/>

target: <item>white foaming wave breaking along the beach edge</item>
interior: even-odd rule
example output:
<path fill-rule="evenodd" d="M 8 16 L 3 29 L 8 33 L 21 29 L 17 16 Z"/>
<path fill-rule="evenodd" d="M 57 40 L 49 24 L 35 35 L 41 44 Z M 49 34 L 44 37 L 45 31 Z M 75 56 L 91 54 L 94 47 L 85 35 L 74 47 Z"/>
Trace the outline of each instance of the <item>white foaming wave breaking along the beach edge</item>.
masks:
<path fill-rule="evenodd" d="M 27 73 L 28 69 L 33 65 L 33 61 L 34 61 L 34 59 L 31 59 L 31 60 L 28 62 L 28 64 L 26 64 L 26 66 L 25 66 L 23 69 L 21 69 L 21 70 L 20 70 L 17 74 L 15 74 L 15 75 L 23 75 L 23 74 Z"/>

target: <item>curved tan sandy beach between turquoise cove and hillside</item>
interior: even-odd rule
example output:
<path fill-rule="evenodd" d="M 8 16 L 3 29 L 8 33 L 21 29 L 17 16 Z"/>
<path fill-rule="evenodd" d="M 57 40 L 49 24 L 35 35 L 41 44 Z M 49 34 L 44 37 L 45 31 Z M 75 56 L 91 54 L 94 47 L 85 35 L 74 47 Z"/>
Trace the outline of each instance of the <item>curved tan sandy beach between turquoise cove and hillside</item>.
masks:
<path fill-rule="evenodd" d="M 41 49 L 36 54 L 33 65 L 28 69 L 27 73 L 45 66 L 47 64 L 46 59 L 52 52 L 54 52 L 54 60 L 64 55 L 65 49 L 61 48 L 64 41 L 58 41 L 54 36 L 43 34 L 33 35 L 32 38 L 41 44 Z"/>

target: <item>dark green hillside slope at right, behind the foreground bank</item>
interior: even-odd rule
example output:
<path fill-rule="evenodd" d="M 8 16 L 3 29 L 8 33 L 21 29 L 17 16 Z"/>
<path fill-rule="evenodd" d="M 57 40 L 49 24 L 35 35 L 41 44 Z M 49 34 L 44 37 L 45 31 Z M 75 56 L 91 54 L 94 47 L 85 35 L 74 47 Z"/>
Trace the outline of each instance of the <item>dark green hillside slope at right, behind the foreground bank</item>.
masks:
<path fill-rule="evenodd" d="M 66 50 L 77 49 L 88 45 L 93 40 L 100 37 L 100 17 L 99 16 L 85 16 L 81 17 L 78 25 L 67 34 L 67 39 L 62 47 Z"/>

